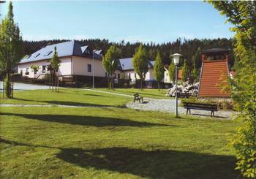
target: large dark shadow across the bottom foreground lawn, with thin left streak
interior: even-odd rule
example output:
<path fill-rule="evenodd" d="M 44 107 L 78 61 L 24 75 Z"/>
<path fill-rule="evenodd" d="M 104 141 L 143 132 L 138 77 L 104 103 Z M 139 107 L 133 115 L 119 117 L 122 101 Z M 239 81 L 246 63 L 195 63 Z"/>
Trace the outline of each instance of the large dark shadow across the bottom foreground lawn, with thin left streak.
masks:
<path fill-rule="evenodd" d="M 54 148 L 1 140 L 9 145 Z M 129 173 L 143 178 L 238 178 L 234 156 L 135 148 L 58 148 L 56 157 L 86 169 Z"/>

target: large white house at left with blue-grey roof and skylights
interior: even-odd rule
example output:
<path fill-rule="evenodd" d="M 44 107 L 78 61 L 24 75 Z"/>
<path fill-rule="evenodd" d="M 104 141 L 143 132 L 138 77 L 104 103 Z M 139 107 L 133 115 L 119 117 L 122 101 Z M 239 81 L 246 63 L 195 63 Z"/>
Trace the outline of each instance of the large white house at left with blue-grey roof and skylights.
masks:
<path fill-rule="evenodd" d="M 18 64 L 18 72 L 26 77 L 42 78 L 49 73 L 48 66 L 50 59 L 53 57 L 54 47 L 57 48 L 57 53 L 61 61 L 59 66 L 60 77 L 105 77 L 105 69 L 102 66 L 102 56 L 99 51 L 94 54 L 88 46 L 81 46 L 78 42 L 69 41 L 54 45 L 42 47 L 35 53 L 32 53 L 26 58 L 23 58 Z M 93 66 L 94 58 L 94 66 Z M 39 71 L 34 73 L 31 69 L 32 65 L 39 66 Z"/>

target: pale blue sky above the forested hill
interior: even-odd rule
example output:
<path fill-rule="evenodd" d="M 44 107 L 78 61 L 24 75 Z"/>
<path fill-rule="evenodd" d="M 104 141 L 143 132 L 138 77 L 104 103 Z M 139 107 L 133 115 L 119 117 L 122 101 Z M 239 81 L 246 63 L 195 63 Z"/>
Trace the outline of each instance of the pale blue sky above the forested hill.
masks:
<path fill-rule="evenodd" d="M 8 3 L 1 5 L 1 18 Z M 230 24 L 203 1 L 13 1 L 23 39 L 172 42 L 233 37 Z"/>

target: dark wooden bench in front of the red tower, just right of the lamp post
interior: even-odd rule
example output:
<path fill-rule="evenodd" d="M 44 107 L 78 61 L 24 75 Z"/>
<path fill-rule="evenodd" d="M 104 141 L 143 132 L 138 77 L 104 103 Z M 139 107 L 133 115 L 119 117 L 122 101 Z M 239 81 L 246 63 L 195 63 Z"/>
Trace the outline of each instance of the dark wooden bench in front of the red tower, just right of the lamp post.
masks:
<path fill-rule="evenodd" d="M 214 116 L 214 112 L 218 111 L 217 104 L 202 104 L 202 103 L 192 103 L 184 102 L 184 107 L 187 108 L 187 113 L 191 114 L 191 109 L 193 110 L 209 110 L 211 111 L 211 117 Z"/>

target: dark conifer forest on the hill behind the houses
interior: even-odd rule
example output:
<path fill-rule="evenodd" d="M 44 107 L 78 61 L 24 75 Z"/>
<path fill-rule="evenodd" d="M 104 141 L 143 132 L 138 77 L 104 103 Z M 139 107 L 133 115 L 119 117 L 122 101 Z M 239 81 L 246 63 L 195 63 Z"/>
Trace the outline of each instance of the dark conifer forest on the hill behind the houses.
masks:
<path fill-rule="evenodd" d="M 68 39 L 53 39 L 53 40 L 42 40 L 42 41 L 24 41 L 24 54 L 34 53 L 36 50 L 39 50 L 46 45 L 51 45 L 59 42 L 65 42 Z M 139 42 L 129 43 L 129 42 L 120 42 L 113 43 L 109 42 L 108 39 L 84 39 L 78 40 L 77 42 L 80 45 L 89 45 L 91 49 L 102 49 L 103 54 L 108 50 L 110 45 L 117 45 L 121 48 L 121 58 L 132 57 L 135 53 L 135 50 L 140 45 Z M 162 44 L 154 44 L 147 43 L 145 44 L 146 50 L 148 51 L 149 58 L 155 58 L 157 50 L 162 55 L 162 58 L 165 61 L 165 64 L 170 64 L 169 56 L 173 53 L 181 53 L 184 58 L 187 58 L 189 66 L 192 66 L 192 57 L 196 57 L 197 67 L 200 66 L 200 56 L 198 55 L 198 50 L 206 50 L 212 47 L 220 47 L 220 48 L 229 48 L 230 52 L 230 66 L 233 66 L 234 58 L 233 58 L 233 39 L 177 39 L 175 42 L 167 42 Z M 199 49 L 198 49 L 199 48 Z M 182 64 L 182 61 L 181 61 Z"/>

